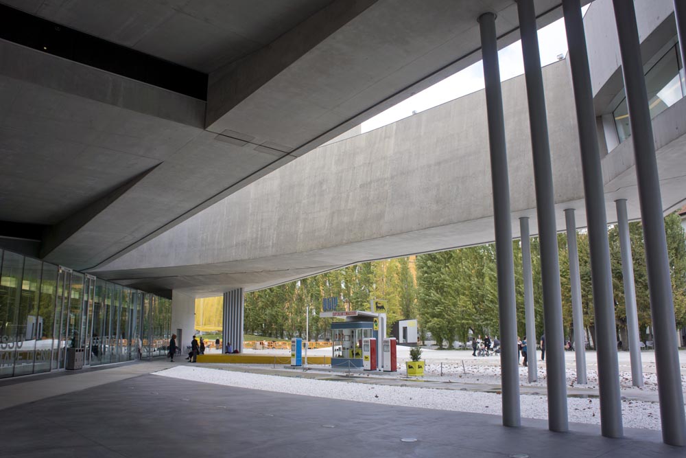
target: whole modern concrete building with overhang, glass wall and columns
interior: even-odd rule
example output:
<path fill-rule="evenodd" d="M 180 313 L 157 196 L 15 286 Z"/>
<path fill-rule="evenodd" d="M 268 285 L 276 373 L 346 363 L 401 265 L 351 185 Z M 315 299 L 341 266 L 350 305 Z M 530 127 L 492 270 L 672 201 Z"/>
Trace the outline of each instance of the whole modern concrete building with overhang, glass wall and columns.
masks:
<path fill-rule="evenodd" d="M 69 346 L 99 365 L 185 345 L 196 297 L 224 295 L 240 348 L 246 291 L 495 241 L 519 426 L 510 242 L 537 235 L 567 431 L 556 233 L 586 228 L 601 429 L 621 437 L 606 228 L 640 219 L 663 438 L 686 445 L 662 226 L 686 199 L 686 5 L 588 3 L 0 0 L 0 377 Z M 569 54 L 541 69 L 536 30 L 563 16 Z M 520 38 L 525 74 L 501 83 Z M 483 91 L 339 137 L 479 60 Z"/>

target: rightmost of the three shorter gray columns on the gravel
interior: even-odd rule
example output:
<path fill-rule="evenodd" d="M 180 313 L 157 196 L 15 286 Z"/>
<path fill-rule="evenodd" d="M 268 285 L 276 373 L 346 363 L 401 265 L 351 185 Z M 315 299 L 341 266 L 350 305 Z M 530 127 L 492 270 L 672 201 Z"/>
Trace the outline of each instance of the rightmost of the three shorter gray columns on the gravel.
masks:
<path fill-rule="evenodd" d="M 624 304 L 626 308 L 626 329 L 629 338 L 631 358 L 631 380 L 635 387 L 643 386 L 643 365 L 639 347 L 639 317 L 636 308 L 634 288 L 634 261 L 631 258 L 629 220 L 626 216 L 626 199 L 617 199 L 617 226 L 619 227 L 619 249 L 622 251 L 622 278 L 624 279 Z"/>

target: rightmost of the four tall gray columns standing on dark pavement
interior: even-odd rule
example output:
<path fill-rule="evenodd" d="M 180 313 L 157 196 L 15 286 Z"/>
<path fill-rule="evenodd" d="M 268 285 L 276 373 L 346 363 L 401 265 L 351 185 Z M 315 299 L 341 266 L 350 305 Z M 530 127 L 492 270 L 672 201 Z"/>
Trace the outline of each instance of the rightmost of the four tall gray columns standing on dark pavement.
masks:
<path fill-rule="evenodd" d="M 660 179 L 655 158 L 652 121 L 648 108 L 646 78 L 632 1 L 613 0 L 619 54 L 634 143 L 636 179 L 641 203 L 643 244 L 650 293 L 650 315 L 655 342 L 657 388 L 660 399 L 662 439 L 666 444 L 686 446 L 686 417 L 681 388 L 676 320 L 672 301 L 670 262 L 667 257 L 665 221 L 662 213 Z"/>

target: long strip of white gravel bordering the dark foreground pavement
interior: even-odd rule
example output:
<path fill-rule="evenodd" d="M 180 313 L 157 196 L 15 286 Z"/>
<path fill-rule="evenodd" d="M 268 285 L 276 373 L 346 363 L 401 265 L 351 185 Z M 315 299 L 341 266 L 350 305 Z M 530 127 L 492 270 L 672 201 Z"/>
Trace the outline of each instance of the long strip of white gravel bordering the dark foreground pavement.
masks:
<path fill-rule="evenodd" d="M 188 366 L 172 367 L 171 369 L 156 372 L 155 375 L 215 383 L 230 387 L 316 396 L 318 398 L 376 402 L 377 404 L 447 411 L 490 413 L 494 415 L 502 413 L 501 396 L 496 393 L 367 385 L 362 383 L 311 380 L 307 378 L 266 376 Z M 521 396 L 520 399 L 521 415 L 523 417 L 547 419 L 547 398 L 545 396 L 526 395 Z M 600 424 L 600 403 L 598 399 L 568 398 L 567 403 L 570 422 Z M 624 400 L 622 401 L 622 415 L 624 426 L 627 428 L 661 429 L 659 405 L 655 402 Z"/>

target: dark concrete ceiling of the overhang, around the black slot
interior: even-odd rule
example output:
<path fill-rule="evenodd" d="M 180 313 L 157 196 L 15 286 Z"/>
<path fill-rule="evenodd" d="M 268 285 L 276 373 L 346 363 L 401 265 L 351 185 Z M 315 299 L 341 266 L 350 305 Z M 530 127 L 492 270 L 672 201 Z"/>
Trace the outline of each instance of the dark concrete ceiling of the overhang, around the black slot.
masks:
<path fill-rule="evenodd" d="M 518 38 L 512 0 L 0 3 L 209 73 L 204 102 L 0 40 L 0 222 L 45 227 L 36 254 L 77 269 L 471 65 L 480 13 Z"/>

